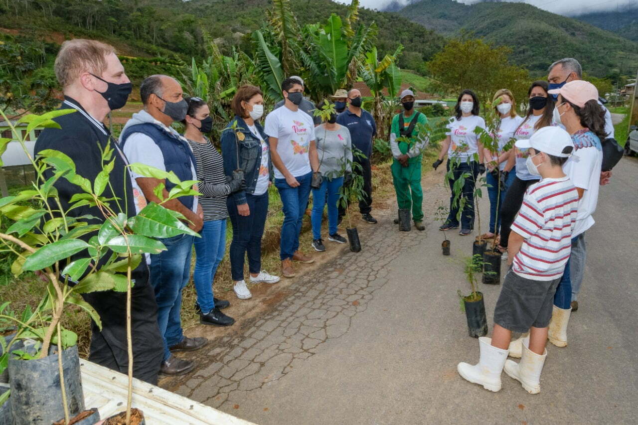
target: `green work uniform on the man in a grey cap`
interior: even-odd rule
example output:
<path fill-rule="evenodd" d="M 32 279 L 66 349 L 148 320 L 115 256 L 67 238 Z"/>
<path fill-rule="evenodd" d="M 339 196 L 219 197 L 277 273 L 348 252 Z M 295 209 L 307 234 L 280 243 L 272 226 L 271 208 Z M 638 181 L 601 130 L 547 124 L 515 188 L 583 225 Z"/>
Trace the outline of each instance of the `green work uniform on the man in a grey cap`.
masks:
<path fill-rule="evenodd" d="M 407 129 L 410 126 L 410 122 L 414 114 L 417 112 L 412 110 L 412 114 L 409 117 L 403 116 L 403 126 Z M 403 114 L 403 112 L 401 112 Z M 401 136 L 399 133 L 399 116 L 401 114 L 397 114 L 392 118 L 392 127 L 390 128 L 390 132 L 396 135 L 396 137 Z M 417 117 L 417 123 L 426 124 L 427 118 L 424 114 L 419 114 Z M 415 128 L 412 131 L 412 136 L 410 140 L 412 140 L 412 144 L 415 144 L 418 141 L 418 131 Z M 408 153 L 408 149 L 410 149 L 410 145 L 406 142 L 398 143 L 399 150 L 402 154 Z M 423 220 L 423 190 L 421 189 L 421 156 L 419 153 L 417 156 L 410 158 L 408 160 L 408 167 L 403 167 L 399 161 L 392 160 L 392 180 L 394 181 L 394 190 L 397 193 L 397 204 L 399 204 L 399 209 L 410 209 L 412 208 L 412 220 L 421 221 Z"/>

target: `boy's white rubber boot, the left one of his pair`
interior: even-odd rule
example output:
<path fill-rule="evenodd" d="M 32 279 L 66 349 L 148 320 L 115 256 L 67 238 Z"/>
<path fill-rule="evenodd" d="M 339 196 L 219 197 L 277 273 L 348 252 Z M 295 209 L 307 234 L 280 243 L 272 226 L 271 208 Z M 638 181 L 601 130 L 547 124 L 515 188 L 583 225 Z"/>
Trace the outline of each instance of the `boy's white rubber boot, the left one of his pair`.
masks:
<path fill-rule="evenodd" d="M 461 362 L 457 364 L 456 370 L 464 380 L 483 385 L 484 389 L 496 392 L 501 389 L 501 372 L 507 360 L 507 350 L 492 347 L 490 341 L 490 338 L 480 337 L 479 362 L 474 365 Z"/>

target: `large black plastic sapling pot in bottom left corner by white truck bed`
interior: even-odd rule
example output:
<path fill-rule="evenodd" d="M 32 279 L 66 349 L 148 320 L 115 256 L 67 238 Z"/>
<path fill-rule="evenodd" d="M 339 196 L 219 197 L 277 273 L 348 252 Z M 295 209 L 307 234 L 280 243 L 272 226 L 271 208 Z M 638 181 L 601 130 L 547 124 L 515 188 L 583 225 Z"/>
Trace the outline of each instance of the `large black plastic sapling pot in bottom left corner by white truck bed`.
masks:
<path fill-rule="evenodd" d="M 10 356 L 9 399 L 14 425 L 50 425 L 64 417 L 57 347 L 54 348 L 54 354 L 43 359 L 21 360 L 15 355 Z M 77 346 L 64 350 L 62 368 L 69 414 L 75 416 L 84 410 Z"/>

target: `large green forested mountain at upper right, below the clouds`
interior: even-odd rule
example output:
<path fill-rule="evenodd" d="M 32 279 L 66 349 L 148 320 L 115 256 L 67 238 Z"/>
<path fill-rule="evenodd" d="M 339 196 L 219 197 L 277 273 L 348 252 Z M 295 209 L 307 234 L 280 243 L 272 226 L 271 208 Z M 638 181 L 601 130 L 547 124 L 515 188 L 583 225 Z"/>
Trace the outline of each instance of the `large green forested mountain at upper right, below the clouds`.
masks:
<path fill-rule="evenodd" d="M 468 34 L 509 45 L 514 63 L 538 75 L 568 56 L 597 77 L 633 74 L 638 67 L 638 43 L 530 4 L 422 0 L 399 13 L 447 36 Z"/>

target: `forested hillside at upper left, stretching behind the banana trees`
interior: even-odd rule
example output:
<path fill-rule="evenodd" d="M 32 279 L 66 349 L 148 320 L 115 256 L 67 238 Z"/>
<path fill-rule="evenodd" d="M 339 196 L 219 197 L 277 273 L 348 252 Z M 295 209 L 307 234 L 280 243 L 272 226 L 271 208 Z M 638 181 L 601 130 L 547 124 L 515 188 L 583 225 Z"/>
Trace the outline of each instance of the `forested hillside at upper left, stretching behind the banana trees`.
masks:
<path fill-rule="evenodd" d="M 251 33 L 262 26 L 273 4 L 278 1 L 15 0 L 0 3 L 0 15 L 10 18 L 3 19 L 0 28 L 94 36 L 123 47 L 124 54 L 166 56 L 170 50 L 189 61 L 205 55 L 207 35 L 219 41 L 223 52 L 232 46 L 250 52 Z M 303 25 L 325 20 L 330 13 L 343 18 L 347 6 L 330 0 L 292 0 L 292 10 Z M 399 62 L 404 68 L 414 69 L 445 43 L 440 34 L 394 13 L 361 9 L 359 15 L 362 24 L 376 22 L 380 52 L 404 46 Z"/>

